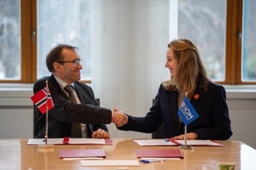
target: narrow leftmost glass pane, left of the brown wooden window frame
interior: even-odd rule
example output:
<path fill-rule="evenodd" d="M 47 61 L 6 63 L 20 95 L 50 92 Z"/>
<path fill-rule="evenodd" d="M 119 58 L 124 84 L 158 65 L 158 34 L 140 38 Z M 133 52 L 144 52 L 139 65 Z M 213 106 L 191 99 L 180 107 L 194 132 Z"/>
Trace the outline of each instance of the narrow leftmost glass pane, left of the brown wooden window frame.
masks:
<path fill-rule="evenodd" d="M 0 7 L 0 79 L 20 80 L 20 1 L 0 1 Z"/>

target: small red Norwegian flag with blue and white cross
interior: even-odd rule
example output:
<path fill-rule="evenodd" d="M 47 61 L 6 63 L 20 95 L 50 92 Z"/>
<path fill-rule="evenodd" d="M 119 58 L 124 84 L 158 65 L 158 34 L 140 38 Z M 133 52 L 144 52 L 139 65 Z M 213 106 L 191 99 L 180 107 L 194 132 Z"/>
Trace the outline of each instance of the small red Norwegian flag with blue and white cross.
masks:
<path fill-rule="evenodd" d="M 47 91 L 48 110 L 54 107 L 50 91 Z M 46 87 L 30 98 L 42 114 L 46 113 Z"/>

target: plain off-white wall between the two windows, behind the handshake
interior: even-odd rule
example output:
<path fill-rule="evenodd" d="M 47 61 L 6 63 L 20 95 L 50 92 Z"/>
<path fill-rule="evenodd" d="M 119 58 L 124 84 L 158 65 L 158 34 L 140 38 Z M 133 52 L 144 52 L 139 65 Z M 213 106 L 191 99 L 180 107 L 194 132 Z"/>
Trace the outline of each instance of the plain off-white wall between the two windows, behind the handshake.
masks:
<path fill-rule="evenodd" d="M 169 0 L 94 0 L 92 88 L 101 106 L 144 116 L 158 87 L 169 42 Z M 150 137 L 115 131 L 111 137 Z"/>

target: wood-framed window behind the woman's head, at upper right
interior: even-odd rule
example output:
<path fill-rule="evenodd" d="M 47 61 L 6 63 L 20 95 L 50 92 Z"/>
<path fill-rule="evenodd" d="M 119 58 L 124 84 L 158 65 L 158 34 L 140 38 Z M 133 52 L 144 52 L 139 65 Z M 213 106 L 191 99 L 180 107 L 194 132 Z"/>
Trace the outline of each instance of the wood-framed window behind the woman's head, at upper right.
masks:
<path fill-rule="evenodd" d="M 178 38 L 197 45 L 215 82 L 256 84 L 255 5 L 254 0 L 178 1 Z"/>

